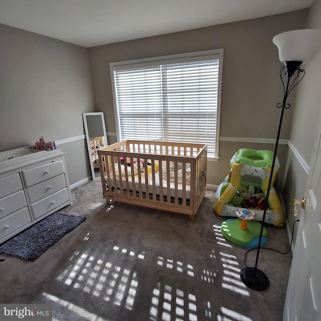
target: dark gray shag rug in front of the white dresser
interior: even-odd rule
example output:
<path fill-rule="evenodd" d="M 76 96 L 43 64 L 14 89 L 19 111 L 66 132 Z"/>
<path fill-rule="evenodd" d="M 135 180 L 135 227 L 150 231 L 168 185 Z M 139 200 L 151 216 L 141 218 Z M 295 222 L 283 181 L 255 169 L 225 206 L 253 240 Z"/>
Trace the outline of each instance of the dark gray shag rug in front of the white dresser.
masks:
<path fill-rule="evenodd" d="M 0 245 L 0 253 L 35 261 L 85 220 L 84 216 L 55 212 Z"/>

